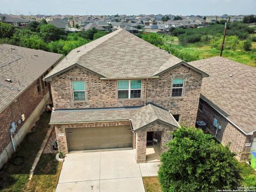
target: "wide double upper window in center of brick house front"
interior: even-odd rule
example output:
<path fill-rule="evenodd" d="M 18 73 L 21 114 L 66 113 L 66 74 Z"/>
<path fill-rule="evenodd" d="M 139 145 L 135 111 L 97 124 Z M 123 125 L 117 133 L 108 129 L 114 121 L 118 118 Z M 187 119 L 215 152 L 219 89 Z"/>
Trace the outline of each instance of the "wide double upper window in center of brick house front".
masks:
<path fill-rule="evenodd" d="M 117 81 L 118 99 L 141 98 L 141 80 Z"/>

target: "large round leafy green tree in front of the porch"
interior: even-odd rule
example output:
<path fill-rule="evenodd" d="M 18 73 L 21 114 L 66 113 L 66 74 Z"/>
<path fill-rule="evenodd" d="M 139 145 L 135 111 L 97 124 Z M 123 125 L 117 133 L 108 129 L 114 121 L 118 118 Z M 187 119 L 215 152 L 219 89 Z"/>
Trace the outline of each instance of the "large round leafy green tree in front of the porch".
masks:
<path fill-rule="evenodd" d="M 238 162 L 228 146 L 195 127 L 182 126 L 173 135 L 158 171 L 164 192 L 237 189 L 241 184 Z"/>

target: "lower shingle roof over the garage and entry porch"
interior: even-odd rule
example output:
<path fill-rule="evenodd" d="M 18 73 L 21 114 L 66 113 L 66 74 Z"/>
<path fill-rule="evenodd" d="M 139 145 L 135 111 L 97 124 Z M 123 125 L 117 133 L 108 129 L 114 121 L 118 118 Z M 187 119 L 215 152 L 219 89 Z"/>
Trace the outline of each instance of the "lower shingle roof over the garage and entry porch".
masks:
<path fill-rule="evenodd" d="M 131 120 L 134 132 L 153 122 L 161 122 L 174 129 L 179 127 L 169 111 L 151 104 L 143 107 L 55 110 L 52 112 L 50 124 L 128 120 Z"/>

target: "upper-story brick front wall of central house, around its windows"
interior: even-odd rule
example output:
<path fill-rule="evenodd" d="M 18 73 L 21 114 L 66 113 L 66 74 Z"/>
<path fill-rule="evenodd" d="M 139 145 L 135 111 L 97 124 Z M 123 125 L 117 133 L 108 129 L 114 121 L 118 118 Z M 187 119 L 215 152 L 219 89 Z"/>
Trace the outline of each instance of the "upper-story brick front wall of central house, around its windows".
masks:
<path fill-rule="evenodd" d="M 173 78 L 185 78 L 183 97 L 171 98 Z M 74 101 L 72 81 L 85 82 L 85 101 Z M 146 79 L 142 79 L 141 98 L 117 99 L 117 80 L 101 80 L 91 72 L 74 67 L 53 78 L 52 97 L 55 109 L 142 106 L 145 102 Z M 202 75 L 186 66 L 178 66 L 148 79 L 146 102 L 164 107 L 172 114 L 180 114 L 180 122 L 195 125 Z"/>

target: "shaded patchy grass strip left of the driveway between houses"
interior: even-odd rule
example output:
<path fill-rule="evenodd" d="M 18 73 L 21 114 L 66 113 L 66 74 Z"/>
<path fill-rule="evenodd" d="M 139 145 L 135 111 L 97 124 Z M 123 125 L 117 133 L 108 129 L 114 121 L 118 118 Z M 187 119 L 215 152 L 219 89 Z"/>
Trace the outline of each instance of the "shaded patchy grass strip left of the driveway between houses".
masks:
<path fill-rule="evenodd" d="M 25 157 L 25 163 L 22 166 L 14 166 L 10 163 L 5 164 L 4 170 L 0 172 L 0 190 L 3 192 L 6 191 L 45 191 L 46 189 L 31 189 L 28 185 L 28 178 L 29 178 L 29 171 L 31 166 L 34 162 L 36 154 L 40 149 L 42 142 L 45 138 L 47 131 L 49 130 L 49 121 L 50 121 L 51 114 L 43 113 L 40 117 L 39 121 L 36 123 L 36 126 L 29 132 L 26 137 L 21 142 L 20 146 L 17 148 L 17 153 L 13 156 L 23 156 Z M 34 185 L 38 186 L 52 186 L 52 181 L 54 176 L 53 174 L 58 174 L 59 164 L 54 162 L 54 155 L 42 155 L 38 167 L 35 170 L 35 175 L 30 182 L 33 182 Z M 48 161 L 48 160 L 50 161 Z M 44 167 L 44 169 L 42 169 Z M 47 170 L 51 170 L 52 172 L 49 173 L 50 175 L 47 176 Z M 41 175 L 45 173 L 44 175 Z M 35 178 L 34 178 L 35 177 Z M 44 178 L 42 181 L 38 178 Z M 49 178 L 47 181 L 46 178 Z M 51 181 L 50 181 L 51 180 Z M 57 179 L 58 180 L 58 179 Z M 41 183 L 44 182 L 44 183 Z M 55 184 L 52 186 L 55 188 Z"/>

